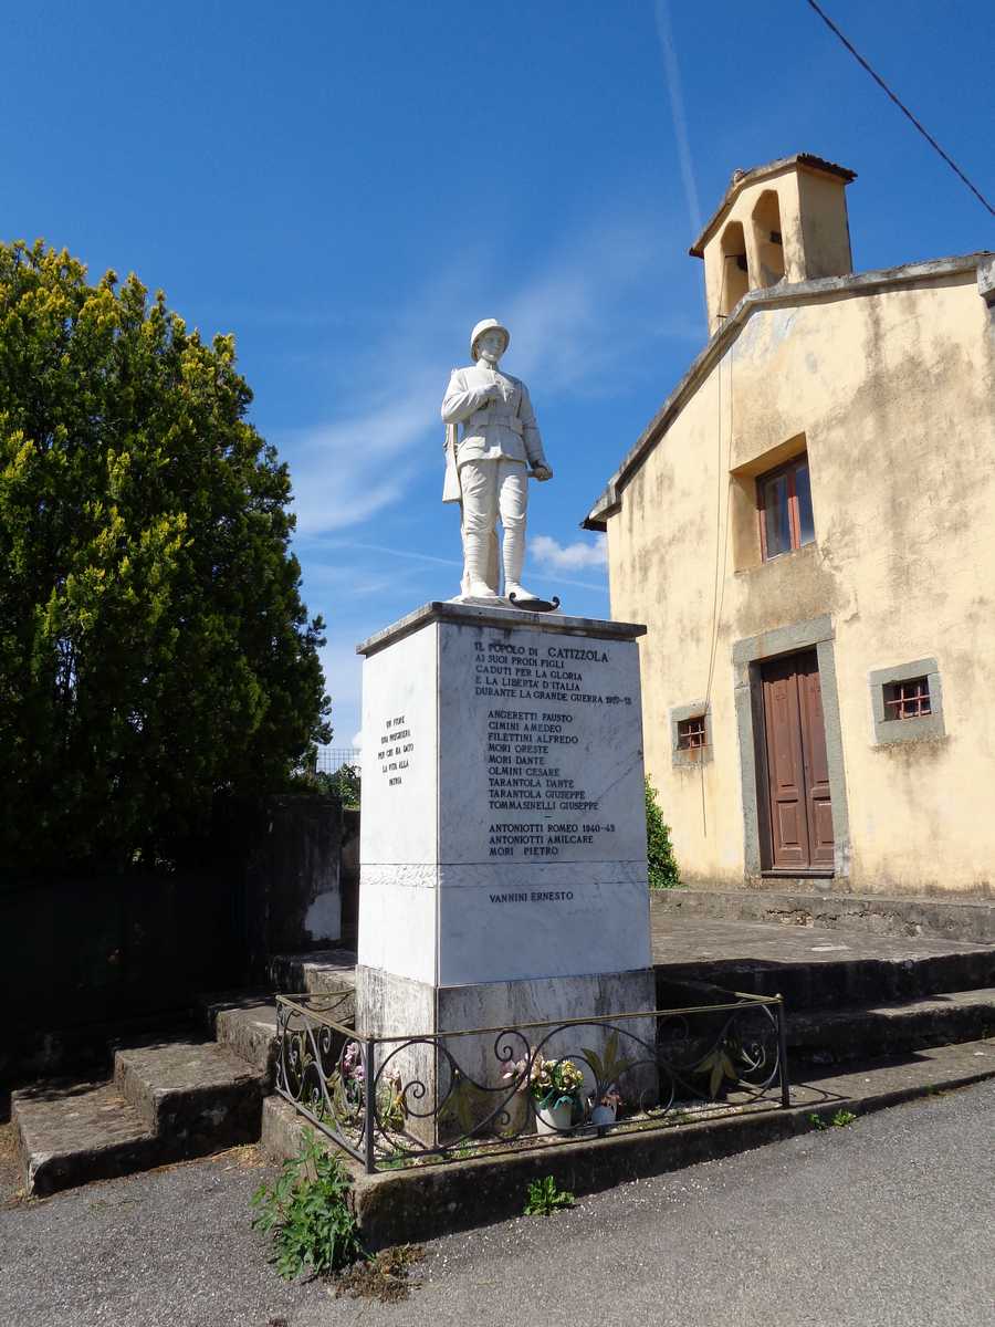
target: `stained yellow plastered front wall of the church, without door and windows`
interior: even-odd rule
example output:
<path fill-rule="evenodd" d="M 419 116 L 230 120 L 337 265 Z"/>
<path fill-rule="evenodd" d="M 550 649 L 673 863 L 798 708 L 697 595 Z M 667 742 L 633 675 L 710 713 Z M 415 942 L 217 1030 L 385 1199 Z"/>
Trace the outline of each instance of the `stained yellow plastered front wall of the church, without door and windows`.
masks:
<path fill-rule="evenodd" d="M 829 614 L 852 851 L 834 888 L 992 889 L 990 320 L 972 273 L 758 311 L 622 486 L 612 612 L 649 628 L 646 764 L 689 882 L 744 880 L 734 644 Z M 816 543 L 762 563 L 751 471 L 797 439 Z M 876 744 L 868 674 L 929 657 L 946 735 Z M 712 758 L 674 768 L 669 711 L 706 694 Z"/>

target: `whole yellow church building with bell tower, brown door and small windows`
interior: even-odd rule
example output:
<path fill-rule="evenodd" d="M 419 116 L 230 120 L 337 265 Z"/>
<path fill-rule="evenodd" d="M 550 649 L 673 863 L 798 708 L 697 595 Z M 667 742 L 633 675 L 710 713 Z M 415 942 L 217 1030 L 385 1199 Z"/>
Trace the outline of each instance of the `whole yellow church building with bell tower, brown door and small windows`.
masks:
<path fill-rule="evenodd" d="M 736 171 L 710 340 L 588 515 L 685 882 L 995 892 L 995 256 L 854 272 L 853 171 Z"/>

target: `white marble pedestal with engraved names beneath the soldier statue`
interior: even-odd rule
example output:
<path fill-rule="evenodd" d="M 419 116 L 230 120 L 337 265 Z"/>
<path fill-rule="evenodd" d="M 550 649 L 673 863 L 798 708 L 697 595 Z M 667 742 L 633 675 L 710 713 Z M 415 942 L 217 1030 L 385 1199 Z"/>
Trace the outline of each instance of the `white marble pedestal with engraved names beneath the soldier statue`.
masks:
<path fill-rule="evenodd" d="M 654 1007 L 643 632 L 432 602 L 358 646 L 361 1032 Z M 447 1044 L 494 1075 L 484 1039 Z M 418 1074 L 444 1091 L 438 1051 Z"/>

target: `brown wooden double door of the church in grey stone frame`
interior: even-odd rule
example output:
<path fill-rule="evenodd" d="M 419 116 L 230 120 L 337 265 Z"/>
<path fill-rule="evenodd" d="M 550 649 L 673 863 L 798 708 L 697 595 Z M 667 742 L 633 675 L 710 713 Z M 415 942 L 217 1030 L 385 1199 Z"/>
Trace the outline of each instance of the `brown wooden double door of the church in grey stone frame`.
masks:
<path fill-rule="evenodd" d="M 764 664 L 762 679 L 769 864 L 775 871 L 832 869 L 833 812 L 815 650 Z"/>

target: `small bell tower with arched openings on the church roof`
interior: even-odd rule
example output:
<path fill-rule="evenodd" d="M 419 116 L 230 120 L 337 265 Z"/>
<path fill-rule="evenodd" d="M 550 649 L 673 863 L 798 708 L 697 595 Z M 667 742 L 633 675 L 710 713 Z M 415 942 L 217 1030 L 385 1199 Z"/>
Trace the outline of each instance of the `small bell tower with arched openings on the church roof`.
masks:
<path fill-rule="evenodd" d="M 734 171 L 690 249 L 704 260 L 710 334 L 750 291 L 853 271 L 844 190 L 856 178 L 808 153 Z"/>

